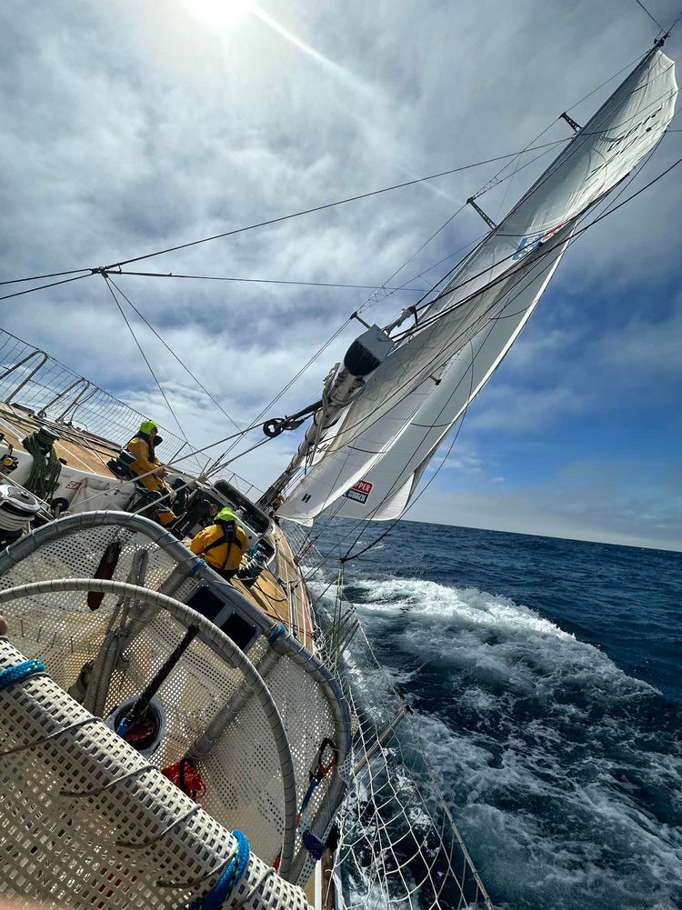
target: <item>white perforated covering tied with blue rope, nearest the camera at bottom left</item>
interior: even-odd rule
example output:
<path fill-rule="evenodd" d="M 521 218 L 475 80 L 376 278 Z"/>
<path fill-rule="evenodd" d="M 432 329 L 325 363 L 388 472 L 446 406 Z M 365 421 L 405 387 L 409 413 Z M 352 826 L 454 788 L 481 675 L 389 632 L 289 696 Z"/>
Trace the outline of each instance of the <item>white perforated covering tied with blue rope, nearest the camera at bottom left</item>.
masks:
<path fill-rule="evenodd" d="M 0 667 L 23 659 L 0 639 Z M 77 910 L 175 910 L 219 878 L 229 831 L 49 676 L 0 692 L 0 742 L 3 894 Z M 306 910 L 300 889 L 267 871 L 251 854 L 225 906 L 245 898 L 253 910 Z"/>

